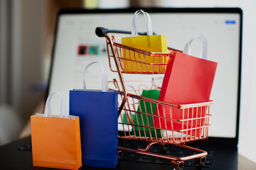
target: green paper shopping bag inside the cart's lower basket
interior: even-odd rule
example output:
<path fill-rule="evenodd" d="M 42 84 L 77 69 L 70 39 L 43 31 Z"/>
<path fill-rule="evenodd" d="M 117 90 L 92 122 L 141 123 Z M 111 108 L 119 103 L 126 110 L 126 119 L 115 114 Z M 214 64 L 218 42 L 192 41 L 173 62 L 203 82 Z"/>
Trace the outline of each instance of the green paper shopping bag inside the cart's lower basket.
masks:
<path fill-rule="evenodd" d="M 159 99 L 159 90 L 144 90 L 142 91 L 142 96 L 146 98 Z M 161 137 L 161 130 L 155 130 L 153 123 L 153 118 L 150 115 L 154 114 L 156 111 L 156 103 L 149 103 L 147 101 L 139 101 L 139 106 L 136 115 L 134 115 L 134 132 L 137 137 Z M 146 114 L 143 114 L 146 113 Z M 137 126 L 139 125 L 139 126 Z M 142 127 L 143 126 L 143 127 Z M 144 128 L 144 127 L 152 128 Z"/>

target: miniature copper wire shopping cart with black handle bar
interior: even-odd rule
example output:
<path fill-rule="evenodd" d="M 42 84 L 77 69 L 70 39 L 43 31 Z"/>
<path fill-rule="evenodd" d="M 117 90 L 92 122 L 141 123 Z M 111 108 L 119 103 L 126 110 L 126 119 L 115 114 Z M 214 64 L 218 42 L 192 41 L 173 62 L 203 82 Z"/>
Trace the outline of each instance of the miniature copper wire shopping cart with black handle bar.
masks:
<path fill-rule="evenodd" d="M 208 138 L 209 110 L 213 102 L 176 105 L 146 98 L 141 96 L 142 90 L 161 89 L 161 86 L 156 84 L 154 79 L 151 80 L 149 86 L 143 86 L 144 81 L 140 83 L 139 87 L 134 87 L 129 85 L 129 81 L 124 81 L 123 77 L 123 74 L 164 74 L 169 55 L 177 50 L 169 48 L 167 53 L 146 52 L 117 43 L 117 38 L 114 36 L 110 38 L 107 33 L 129 32 L 105 28 L 96 29 L 96 34 L 99 37 L 107 38 L 110 69 L 112 72 L 117 72 L 119 76 L 119 81 L 114 79 L 110 82 L 113 85 L 112 89 L 117 89 L 119 93 L 118 125 L 119 128 L 122 128 L 122 134 L 119 133 L 119 138 L 149 142 L 149 145 L 144 149 L 119 147 L 119 150 L 169 159 L 175 170 L 183 169 L 184 161 L 189 159 L 195 159 L 196 166 L 201 167 L 206 162 L 207 152 L 188 147 L 185 144 Z M 151 57 L 153 62 L 147 62 L 146 57 Z M 164 116 L 157 114 L 161 111 L 164 112 Z M 173 113 L 176 111 L 181 114 L 181 118 L 175 118 Z M 179 128 L 174 128 L 175 125 L 178 125 Z M 150 147 L 156 144 L 176 145 L 190 149 L 196 154 L 186 157 L 172 157 L 149 152 Z"/>

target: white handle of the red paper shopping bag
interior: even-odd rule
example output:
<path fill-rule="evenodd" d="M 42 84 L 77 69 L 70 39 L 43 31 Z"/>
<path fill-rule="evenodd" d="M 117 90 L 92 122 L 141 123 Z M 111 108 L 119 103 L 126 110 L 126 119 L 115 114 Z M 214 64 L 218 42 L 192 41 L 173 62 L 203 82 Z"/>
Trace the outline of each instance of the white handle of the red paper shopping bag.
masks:
<path fill-rule="evenodd" d="M 191 40 L 189 40 L 185 47 L 184 47 L 184 50 L 183 50 L 183 53 L 186 54 L 186 55 L 189 55 L 191 54 L 191 42 L 193 42 L 193 40 L 195 39 L 199 39 L 201 40 L 202 44 L 203 44 L 203 48 L 202 48 L 202 51 L 201 51 L 201 58 L 202 59 L 207 59 L 207 48 L 208 48 L 208 41 L 206 39 L 205 36 L 201 35 L 201 34 L 198 34 L 198 35 L 195 35 L 194 38 L 192 38 Z"/>

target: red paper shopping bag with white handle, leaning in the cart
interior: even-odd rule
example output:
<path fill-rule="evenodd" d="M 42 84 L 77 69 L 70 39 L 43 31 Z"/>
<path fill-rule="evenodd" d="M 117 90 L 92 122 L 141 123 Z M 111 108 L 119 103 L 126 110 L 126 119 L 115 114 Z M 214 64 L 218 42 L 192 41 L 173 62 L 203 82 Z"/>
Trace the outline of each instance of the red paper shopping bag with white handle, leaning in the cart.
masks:
<path fill-rule="evenodd" d="M 203 42 L 202 58 L 188 55 L 191 42 L 198 38 Z M 216 62 L 206 60 L 207 40 L 203 35 L 188 41 L 182 52 L 171 53 L 169 63 L 161 86 L 159 101 L 174 103 L 178 105 L 208 102 L 210 91 L 215 77 Z M 201 126 L 204 123 L 206 108 L 190 108 L 183 113 L 182 109 L 159 106 L 156 115 L 175 120 L 194 119 L 186 121 L 172 121 L 164 118 L 154 117 L 157 128 L 168 130 L 187 130 L 183 133 L 201 136 Z M 201 118 L 200 118 L 201 117 Z M 196 119 L 197 118 L 197 119 Z"/>

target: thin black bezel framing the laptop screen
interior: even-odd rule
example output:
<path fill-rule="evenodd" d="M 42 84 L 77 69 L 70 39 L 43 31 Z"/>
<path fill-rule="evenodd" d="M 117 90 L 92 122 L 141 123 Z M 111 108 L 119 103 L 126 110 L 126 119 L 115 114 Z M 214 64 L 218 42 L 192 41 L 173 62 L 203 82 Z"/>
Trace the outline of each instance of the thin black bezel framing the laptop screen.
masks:
<path fill-rule="evenodd" d="M 46 90 L 46 98 L 50 88 L 51 73 L 53 70 L 53 62 L 55 55 L 55 44 L 57 40 L 57 30 L 59 18 L 65 14 L 91 14 L 91 13 L 134 13 L 135 11 L 143 9 L 148 13 L 238 13 L 240 15 L 240 47 L 239 47 L 239 79 L 238 79 L 238 114 L 237 114 L 237 128 L 234 138 L 225 137 L 209 137 L 208 140 L 198 141 L 198 144 L 203 145 L 220 145 L 237 147 L 238 146 L 238 132 L 239 132 L 239 118 L 240 118 L 240 92 L 241 92 L 241 72 L 242 72 L 242 9 L 241 8 L 115 8 L 115 9 L 85 9 L 85 8 L 64 8 L 59 11 L 58 18 L 55 24 L 55 34 L 53 42 L 53 50 L 50 61 L 50 72 L 48 77 L 48 88 Z"/>

